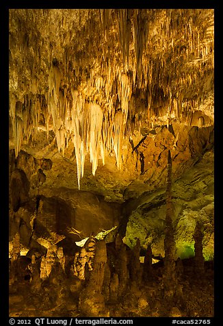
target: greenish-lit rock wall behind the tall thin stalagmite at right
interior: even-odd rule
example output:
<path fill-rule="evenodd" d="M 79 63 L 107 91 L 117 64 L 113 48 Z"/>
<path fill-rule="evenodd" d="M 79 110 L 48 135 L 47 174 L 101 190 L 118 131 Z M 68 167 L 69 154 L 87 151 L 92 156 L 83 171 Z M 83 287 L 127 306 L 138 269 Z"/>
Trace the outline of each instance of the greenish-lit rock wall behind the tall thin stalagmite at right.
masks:
<path fill-rule="evenodd" d="M 196 221 L 204 223 L 203 255 L 213 259 L 213 152 L 209 151 L 172 184 L 174 238 L 181 258 L 194 255 Z M 136 201 L 127 224 L 125 242 L 133 247 L 135 239 L 146 249 L 151 243 L 153 254 L 164 257 L 165 188 L 144 192 Z"/>

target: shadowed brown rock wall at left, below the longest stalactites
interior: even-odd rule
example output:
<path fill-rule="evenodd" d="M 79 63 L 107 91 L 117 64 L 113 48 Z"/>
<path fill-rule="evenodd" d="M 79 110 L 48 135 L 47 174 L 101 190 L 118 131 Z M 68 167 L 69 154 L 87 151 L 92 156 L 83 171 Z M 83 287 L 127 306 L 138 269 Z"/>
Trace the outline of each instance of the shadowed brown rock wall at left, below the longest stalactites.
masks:
<path fill-rule="evenodd" d="M 49 241 L 57 243 L 65 237 L 73 242 L 80 241 L 92 233 L 96 235 L 103 229 L 118 225 L 119 203 L 109 203 L 90 191 L 63 187 L 41 191 L 46 175 L 44 181 L 40 181 L 40 177 L 43 171 L 51 173 L 51 160 L 37 160 L 25 151 L 21 151 L 15 159 L 12 150 L 10 161 L 13 160 L 14 169 L 10 174 L 10 242 L 18 233 L 21 244 L 29 250 L 48 246 Z M 43 169 L 42 174 L 39 167 Z M 80 234 L 73 234 L 73 228 Z"/>

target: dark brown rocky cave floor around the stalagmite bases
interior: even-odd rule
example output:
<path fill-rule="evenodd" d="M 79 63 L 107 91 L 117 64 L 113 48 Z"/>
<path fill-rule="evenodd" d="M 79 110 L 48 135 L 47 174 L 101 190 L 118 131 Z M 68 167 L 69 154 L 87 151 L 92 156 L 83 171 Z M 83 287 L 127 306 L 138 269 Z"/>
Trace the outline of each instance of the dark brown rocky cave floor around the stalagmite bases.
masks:
<path fill-rule="evenodd" d="M 116 301 L 105 300 L 105 306 L 110 317 L 213 317 L 213 279 L 213 271 L 207 271 L 203 278 L 196 278 L 188 271 L 179 282 L 183 295 L 170 300 L 163 297 L 161 277 L 155 275 L 138 287 L 140 294 L 129 289 L 128 294 Z M 68 283 L 69 280 L 66 288 Z M 79 311 L 78 294 L 69 290 L 64 294 L 62 288 L 59 284 L 45 284 L 36 290 L 29 280 L 10 285 L 10 317 L 87 317 Z"/>

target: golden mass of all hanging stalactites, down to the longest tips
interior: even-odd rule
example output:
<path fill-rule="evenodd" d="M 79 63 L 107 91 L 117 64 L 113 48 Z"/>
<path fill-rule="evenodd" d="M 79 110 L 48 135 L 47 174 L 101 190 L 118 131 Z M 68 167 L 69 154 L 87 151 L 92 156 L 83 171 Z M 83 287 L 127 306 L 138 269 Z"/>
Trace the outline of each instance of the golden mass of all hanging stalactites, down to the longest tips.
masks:
<path fill-rule="evenodd" d="M 205 104 L 210 94 L 210 10 L 10 12 L 16 156 L 22 140 L 35 137 L 42 114 L 47 133 L 53 121 L 59 151 L 73 141 L 79 187 L 87 153 L 93 174 L 99 158 L 105 163 L 106 151 L 114 151 L 121 168 L 124 136 L 141 123 L 151 128 L 171 121 L 193 124 L 201 105 L 207 114 L 213 107 Z"/>

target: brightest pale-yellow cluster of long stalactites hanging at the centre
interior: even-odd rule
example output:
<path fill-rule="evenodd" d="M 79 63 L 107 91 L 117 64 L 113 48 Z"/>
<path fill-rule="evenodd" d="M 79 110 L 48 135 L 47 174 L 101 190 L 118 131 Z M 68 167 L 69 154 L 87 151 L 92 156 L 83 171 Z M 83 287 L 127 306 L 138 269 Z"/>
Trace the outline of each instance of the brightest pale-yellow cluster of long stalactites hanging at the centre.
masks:
<path fill-rule="evenodd" d="M 110 105 L 109 110 L 105 110 L 96 101 L 86 101 L 86 95 L 80 90 L 71 89 L 71 96 L 68 99 L 68 91 L 62 92 L 60 88 L 61 79 L 59 68 L 53 67 L 49 77 L 49 114 L 53 119 L 58 150 L 64 154 L 68 141 L 70 139 L 73 141 L 80 188 L 87 153 L 90 153 L 93 175 L 96 173 L 99 158 L 105 164 L 105 151 L 114 150 L 117 166 L 121 167 L 122 139 L 127 125 L 131 86 L 129 77 L 122 73 L 118 77 L 118 101 L 121 109 L 118 111 Z M 107 88 L 107 83 L 104 84 L 102 78 L 97 78 L 94 80 L 94 86 L 98 94 L 102 88 Z"/>

